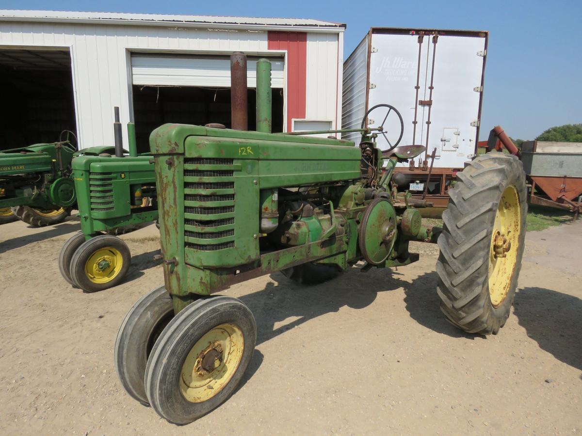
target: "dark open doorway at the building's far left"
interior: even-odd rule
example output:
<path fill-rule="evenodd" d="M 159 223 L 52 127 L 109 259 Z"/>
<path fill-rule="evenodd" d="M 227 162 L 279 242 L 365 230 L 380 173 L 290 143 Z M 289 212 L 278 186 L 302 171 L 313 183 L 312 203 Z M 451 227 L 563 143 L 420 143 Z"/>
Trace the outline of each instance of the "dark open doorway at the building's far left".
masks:
<path fill-rule="evenodd" d="M 68 49 L 0 49 L 0 150 L 55 142 L 76 131 Z"/>

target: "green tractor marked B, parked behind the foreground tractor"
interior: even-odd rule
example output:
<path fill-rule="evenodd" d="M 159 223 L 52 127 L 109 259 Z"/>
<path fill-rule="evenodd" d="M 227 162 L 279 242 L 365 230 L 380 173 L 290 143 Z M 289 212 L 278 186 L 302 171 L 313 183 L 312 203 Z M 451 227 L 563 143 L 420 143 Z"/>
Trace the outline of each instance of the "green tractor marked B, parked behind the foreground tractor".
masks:
<path fill-rule="evenodd" d="M 66 281 L 87 292 L 113 287 L 125 277 L 131 253 L 116 235 L 158 219 L 152 156 L 137 154 L 132 123 L 129 154 L 123 150 L 115 109 L 115 148 L 83 150 L 72 163 L 81 231 L 63 245 L 59 269 Z"/>

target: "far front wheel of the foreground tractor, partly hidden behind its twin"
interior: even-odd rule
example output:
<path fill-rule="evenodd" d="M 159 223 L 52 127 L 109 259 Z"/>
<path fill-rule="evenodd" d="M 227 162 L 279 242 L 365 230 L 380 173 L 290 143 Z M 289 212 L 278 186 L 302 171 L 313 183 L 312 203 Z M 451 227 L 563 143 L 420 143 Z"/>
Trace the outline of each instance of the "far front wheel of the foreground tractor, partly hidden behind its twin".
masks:
<path fill-rule="evenodd" d="M 115 339 L 115 369 L 127 394 L 148 405 L 145 365 L 155 341 L 174 316 L 172 297 L 161 286 L 141 297 L 127 312 Z"/>

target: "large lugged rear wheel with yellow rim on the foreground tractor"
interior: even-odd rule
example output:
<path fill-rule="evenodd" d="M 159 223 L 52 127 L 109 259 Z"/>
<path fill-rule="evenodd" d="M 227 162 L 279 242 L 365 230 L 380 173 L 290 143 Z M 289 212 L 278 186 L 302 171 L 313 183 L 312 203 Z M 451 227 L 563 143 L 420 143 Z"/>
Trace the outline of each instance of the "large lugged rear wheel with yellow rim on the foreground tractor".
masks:
<path fill-rule="evenodd" d="M 438 239 L 437 293 L 447 319 L 497 334 L 513 303 L 526 237 L 527 192 L 516 156 L 491 152 L 457 173 Z"/>

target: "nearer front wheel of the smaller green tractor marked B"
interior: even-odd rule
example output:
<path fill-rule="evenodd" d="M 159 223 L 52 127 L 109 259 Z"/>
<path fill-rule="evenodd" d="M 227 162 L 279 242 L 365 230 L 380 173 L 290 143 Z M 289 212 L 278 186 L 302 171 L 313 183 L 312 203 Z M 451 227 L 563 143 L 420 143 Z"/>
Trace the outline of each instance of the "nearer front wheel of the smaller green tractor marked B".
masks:
<path fill-rule="evenodd" d="M 122 282 L 132 255 L 125 242 L 112 235 L 98 235 L 83 242 L 70 261 L 70 277 L 85 292 L 102 291 Z"/>

